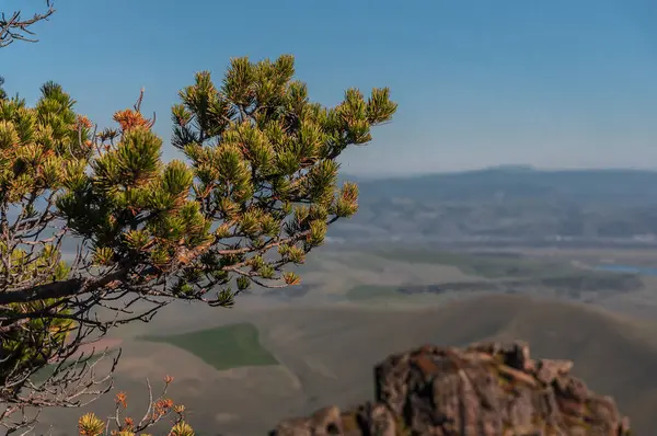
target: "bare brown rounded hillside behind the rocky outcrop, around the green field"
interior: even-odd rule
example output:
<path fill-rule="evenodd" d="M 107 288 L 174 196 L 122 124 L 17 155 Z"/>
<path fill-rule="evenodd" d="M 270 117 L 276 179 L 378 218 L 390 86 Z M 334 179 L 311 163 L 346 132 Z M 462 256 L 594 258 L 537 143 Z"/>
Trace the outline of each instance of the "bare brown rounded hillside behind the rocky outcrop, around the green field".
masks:
<path fill-rule="evenodd" d="M 360 403 L 372 398 L 373 365 L 425 343 L 463 346 L 515 340 L 530 343 L 537 358 L 573 360 L 573 375 L 593 391 L 612 395 L 636 434 L 650 434 L 655 426 L 657 326 L 581 305 L 495 295 L 431 309 L 238 307 L 220 317 L 207 310 L 195 311 L 195 317 L 164 312 L 159 319 L 147 333 L 188 333 L 249 321 L 279 363 L 217 370 L 182 348 L 126 335 L 117 389 L 126 389 L 141 404 L 146 377 L 174 375 L 171 395 L 186 404 L 203 434 L 266 434 L 288 416 L 307 415 L 327 404 Z M 106 411 L 111 401 L 103 399 L 93 409 Z M 57 413 L 58 424 L 74 425 L 79 411 Z"/>

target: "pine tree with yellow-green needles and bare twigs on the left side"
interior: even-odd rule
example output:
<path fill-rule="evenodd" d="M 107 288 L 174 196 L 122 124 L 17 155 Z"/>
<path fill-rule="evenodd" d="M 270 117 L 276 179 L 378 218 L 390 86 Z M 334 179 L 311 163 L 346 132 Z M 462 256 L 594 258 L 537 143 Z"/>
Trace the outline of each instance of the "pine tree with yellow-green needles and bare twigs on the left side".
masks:
<path fill-rule="evenodd" d="M 110 379 L 81 351 L 115 325 L 174 300 L 230 307 L 251 286 L 300 283 L 289 266 L 358 208 L 336 158 L 369 142 L 396 104 L 388 89 L 350 89 L 324 107 L 293 77 L 288 55 L 232 59 L 220 84 L 197 73 L 172 108 L 181 159 L 169 162 L 143 95 L 99 131 L 55 83 L 34 107 L 2 94 L 1 425 L 105 392 Z M 79 250 L 65 262 L 67 240 Z"/>

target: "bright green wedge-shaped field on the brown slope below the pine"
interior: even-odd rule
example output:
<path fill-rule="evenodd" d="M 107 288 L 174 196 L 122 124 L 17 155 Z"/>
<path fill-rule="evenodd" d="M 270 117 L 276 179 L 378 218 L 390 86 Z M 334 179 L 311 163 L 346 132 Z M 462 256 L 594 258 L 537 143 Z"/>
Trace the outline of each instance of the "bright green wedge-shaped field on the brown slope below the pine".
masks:
<path fill-rule="evenodd" d="M 219 370 L 278 365 L 274 356 L 261 345 L 257 328 L 247 322 L 191 333 L 148 335 L 139 339 L 174 345 Z"/>

